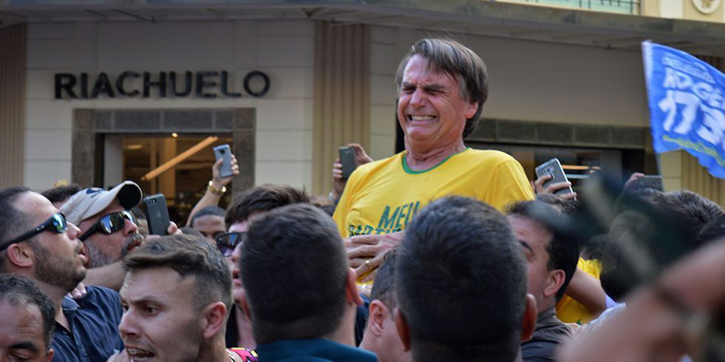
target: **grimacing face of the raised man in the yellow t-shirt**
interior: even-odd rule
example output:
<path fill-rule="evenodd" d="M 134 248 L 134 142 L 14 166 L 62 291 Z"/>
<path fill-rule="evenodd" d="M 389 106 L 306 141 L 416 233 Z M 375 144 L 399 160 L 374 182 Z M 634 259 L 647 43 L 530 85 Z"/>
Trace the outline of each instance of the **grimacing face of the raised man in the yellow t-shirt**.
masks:
<path fill-rule="evenodd" d="M 430 149 L 462 143 L 466 119 L 478 110 L 476 102 L 463 99 L 455 77 L 430 69 L 420 55 L 406 64 L 398 98 L 398 120 L 406 147 Z"/>

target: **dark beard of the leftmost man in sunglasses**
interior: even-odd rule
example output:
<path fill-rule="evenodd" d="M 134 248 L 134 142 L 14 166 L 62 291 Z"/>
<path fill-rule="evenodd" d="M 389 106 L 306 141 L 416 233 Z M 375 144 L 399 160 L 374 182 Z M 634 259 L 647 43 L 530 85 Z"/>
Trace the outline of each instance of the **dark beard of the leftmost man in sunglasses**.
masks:
<path fill-rule="evenodd" d="M 73 291 L 79 282 L 85 278 L 86 270 L 76 266 L 73 258 L 62 258 L 60 255 L 51 255 L 40 243 L 30 243 L 33 252 L 37 255 L 38 262 L 35 268 L 35 279 L 54 287 L 62 288 L 63 291 Z M 73 255 L 81 251 L 79 246 Z"/>

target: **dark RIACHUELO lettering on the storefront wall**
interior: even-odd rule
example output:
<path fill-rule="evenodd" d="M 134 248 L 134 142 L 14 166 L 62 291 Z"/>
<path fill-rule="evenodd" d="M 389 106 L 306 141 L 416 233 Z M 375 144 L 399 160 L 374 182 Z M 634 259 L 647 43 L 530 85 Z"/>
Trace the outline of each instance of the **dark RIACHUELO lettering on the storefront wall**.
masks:
<path fill-rule="evenodd" d="M 97 98 L 241 98 L 240 90 L 229 89 L 228 71 L 123 71 L 110 77 L 88 73 L 55 73 L 56 100 L 95 100 Z M 262 71 L 250 71 L 241 80 L 250 97 L 261 98 L 269 91 L 269 77 Z"/>

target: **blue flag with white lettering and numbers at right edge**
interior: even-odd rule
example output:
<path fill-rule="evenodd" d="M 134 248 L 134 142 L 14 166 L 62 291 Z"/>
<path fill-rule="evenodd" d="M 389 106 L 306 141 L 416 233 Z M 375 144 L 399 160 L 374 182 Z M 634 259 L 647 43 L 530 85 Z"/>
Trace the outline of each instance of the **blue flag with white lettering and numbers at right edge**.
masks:
<path fill-rule="evenodd" d="M 654 151 L 684 149 L 725 178 L 725 75 L 667 46 L 643 42 L 642 52 Z"/>

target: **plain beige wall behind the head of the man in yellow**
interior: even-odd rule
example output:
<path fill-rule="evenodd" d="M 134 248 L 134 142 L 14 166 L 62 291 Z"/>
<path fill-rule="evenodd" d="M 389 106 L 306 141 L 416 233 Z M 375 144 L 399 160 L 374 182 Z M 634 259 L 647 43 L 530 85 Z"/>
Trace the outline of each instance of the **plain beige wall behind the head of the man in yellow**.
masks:
<path fill-rule="evenodd" d="M 430 34 L 372 28 L 372 154 L 390 155 L 394 73 L 416 40 Z M 432 35 L 435 36 L 435 35 Z M 484 118 L 647 126 L 642 55 L 584 46 L 453 34 L 486 62 Z"/>

